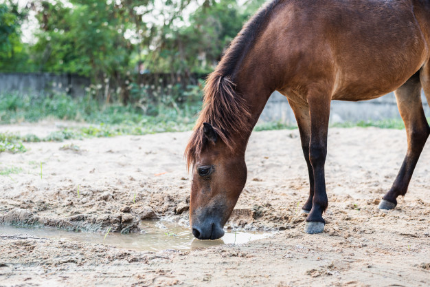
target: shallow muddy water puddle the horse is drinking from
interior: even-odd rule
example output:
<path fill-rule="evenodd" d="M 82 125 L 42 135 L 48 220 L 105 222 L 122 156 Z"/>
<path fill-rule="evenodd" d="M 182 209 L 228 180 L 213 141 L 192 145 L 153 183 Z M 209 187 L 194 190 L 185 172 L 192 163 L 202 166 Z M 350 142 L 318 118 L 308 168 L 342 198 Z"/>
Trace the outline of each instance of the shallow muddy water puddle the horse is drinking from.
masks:
<path fill-rule="evenodd" d="M 104 239 L 104 233 L 71 232 L 54 228 L 23 228 L 3 225 L 0 225 L 0 234 L 27 234 L 36 237 L 65 239 L 76 242 L 109 244 L 137 251 L 161 251 L 165 249 L 190 250 L 222 244 L 243 244 L 252 240 L 266 238 L 273 234 L 226 231 L 225 235 L 219 240 L 197 240 L 192 235 L 190 228 L 174 222 L 148 220 L 141 222 L 141 228 L 146 233 L 109 233 L 106 239 Z"/>

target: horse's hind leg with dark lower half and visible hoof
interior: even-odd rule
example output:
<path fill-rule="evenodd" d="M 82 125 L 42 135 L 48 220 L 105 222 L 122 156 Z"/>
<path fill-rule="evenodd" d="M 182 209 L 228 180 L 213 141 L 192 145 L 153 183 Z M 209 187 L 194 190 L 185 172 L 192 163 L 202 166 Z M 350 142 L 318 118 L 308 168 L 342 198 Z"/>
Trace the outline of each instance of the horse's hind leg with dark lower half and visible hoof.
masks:
<path fill-rule="evenodd" d="M 426 85 L 426 94 L 430 96 L 429 82 Z M 394 180 L 392 188 L 383 196 L 383 200 L 378 206 L 379 209 L 394 209 L 397 205 L 396 198 L 399 195 L 405 196 L 418 158 L 420 158 L 421 151 L 430 134 L 430 127 L 422 109 L 420 72 L 409 78 L 394 94 L 400 116 L 405 123 L 407 152 L 396 180 Z"/>

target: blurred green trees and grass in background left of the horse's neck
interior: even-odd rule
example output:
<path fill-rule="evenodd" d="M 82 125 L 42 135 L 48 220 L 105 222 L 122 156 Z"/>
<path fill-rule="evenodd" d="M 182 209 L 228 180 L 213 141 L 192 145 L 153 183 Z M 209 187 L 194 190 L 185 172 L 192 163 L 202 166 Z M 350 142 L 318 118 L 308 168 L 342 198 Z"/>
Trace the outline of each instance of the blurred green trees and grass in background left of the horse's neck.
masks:
<path fill-rule="evenodd" d="M 78 97 L 67 90 L 0 93 L 0 123 L 91 124 L 45 138 L 0 134 L 0 151 L 24 151 L 22 141 L 192 129 L 205 77 L 262 3 L 0 0 L 0 73 L 89 79 Z"/>

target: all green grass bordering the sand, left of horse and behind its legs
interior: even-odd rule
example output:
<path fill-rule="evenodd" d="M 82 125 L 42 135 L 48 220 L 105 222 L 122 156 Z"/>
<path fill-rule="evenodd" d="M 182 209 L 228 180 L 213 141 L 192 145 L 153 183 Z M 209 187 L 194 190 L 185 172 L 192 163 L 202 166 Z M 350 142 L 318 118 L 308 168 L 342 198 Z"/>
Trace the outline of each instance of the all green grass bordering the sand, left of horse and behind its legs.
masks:
<path fill-rule="evenodd" d="M 198 98 L 194 96 L 194 98 Z M 0 94 L 0 124 L 37 122 L 46 118 L 73 120 L 89 123 L 84 127 L 71 127 L 54 131 L 40 138 L 34 134 L 18 136 L 0 133 L 0 153 L 25 152 L 23 142 L 49 142 L 93 137 L 121 135 L 144 135 L 166 131 L 189 131 L 194 126 L 201 101 L 187 101 L 181 105 L 173 100 L 151 105 L 109 104 L 104 105 L 91 97 L 71 98 L 65 94 L 32 95 Z M 380 127 L 383 129 L 404 129 L 403 121 L 368 120 L 359 123 L 337 123 L 330 127 Z M 259 123 L 254 131 L 297 129 L 296 125 L 285 123 Z"/>

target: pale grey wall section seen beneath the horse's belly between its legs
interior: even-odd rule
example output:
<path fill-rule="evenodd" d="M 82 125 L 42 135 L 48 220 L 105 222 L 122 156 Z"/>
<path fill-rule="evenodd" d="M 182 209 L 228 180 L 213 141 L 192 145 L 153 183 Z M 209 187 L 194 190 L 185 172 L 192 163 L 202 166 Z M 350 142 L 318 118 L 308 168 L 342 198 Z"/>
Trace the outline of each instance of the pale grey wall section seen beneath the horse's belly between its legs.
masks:
<path fill-rule="evenodd" d="M 422 94 L 422 107 L 426 116 L 430 116 L 429 105 Z M 361 120 L 383 120 L 400 118 L 393 93 L 374 100 L 361 102 L 343 102 L 333 100 L 330 106 L 330 123 L 359 122 Z M 260 121 L 280 121 L 295 125 L 295 118 L 288 101 L 279 92 L 274 92 L 260 116 Z"/>

